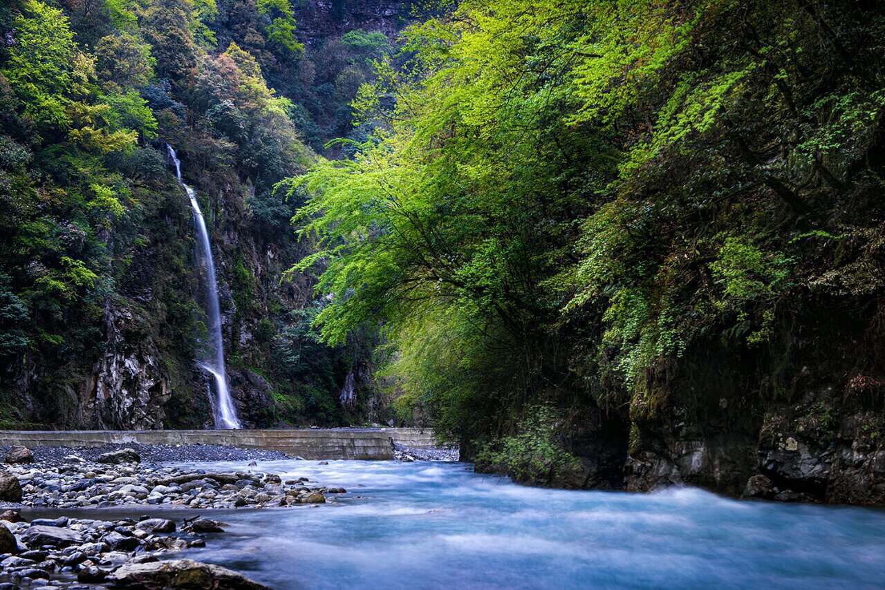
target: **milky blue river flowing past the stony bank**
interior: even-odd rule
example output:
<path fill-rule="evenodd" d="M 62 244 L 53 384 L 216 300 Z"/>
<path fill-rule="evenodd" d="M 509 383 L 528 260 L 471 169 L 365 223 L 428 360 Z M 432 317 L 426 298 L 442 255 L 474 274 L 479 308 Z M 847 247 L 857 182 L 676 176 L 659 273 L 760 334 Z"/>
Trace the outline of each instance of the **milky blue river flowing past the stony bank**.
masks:
<path fill-rule="evenodd" d="M 521 487 L 460 463 L 266 461 L 255 469 L 348 494 L 319 507 L 219 512 L 227 533 L 176 558 L 275 588 L 885 586 L 882 510 L 739 502 L 693 488 Z"/>

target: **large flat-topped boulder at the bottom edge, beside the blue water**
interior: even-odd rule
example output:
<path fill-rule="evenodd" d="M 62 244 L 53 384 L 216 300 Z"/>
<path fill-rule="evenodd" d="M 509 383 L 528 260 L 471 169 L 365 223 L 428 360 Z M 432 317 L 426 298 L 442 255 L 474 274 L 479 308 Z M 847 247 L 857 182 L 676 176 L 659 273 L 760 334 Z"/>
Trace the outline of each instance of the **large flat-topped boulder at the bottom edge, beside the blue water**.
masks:
<path fill-rule="evenodd" d="M 213 588 L 214 590 L 268 590 L 235 571 L 195 562 L 176 559 L 170 562 L 128 563 L 113 571 L 107 582 L 114 588 L 137 590 L 160 590 L 161 588 L 187 588 L 188 590 Z"/>

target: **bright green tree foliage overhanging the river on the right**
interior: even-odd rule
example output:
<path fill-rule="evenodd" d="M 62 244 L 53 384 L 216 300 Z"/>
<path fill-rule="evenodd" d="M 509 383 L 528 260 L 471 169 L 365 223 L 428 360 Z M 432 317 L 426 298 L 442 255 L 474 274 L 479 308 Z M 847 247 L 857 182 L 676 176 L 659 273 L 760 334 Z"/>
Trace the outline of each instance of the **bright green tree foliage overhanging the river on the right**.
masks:
<path fill-rule="evenodd" d="M 381 323 L 402 409 L 467 441 L 539 400 L 694 409 L 714 355 L 783 390 L 792 331 L 881 293 L 883 30 L 735 0 L 468 1 L 411 27 L 354 101 L 382 128 L 293 184 L 316 325 Z"/>

